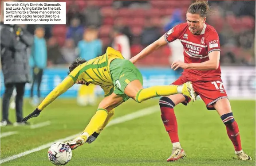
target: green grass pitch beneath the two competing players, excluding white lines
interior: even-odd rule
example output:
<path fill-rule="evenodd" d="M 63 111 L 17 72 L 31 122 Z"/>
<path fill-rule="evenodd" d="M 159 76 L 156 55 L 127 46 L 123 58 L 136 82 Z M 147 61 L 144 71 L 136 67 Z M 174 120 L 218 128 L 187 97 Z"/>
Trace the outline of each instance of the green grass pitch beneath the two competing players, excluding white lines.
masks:
<path fill-rule="evenodd" d="M 116 108 L 114 118 L 158 104 L 157 99 L 138 104 L 133 100 Z M 255 101 L 232 100 L 232 111 L 240 128 L 242 147 L 252 161 L 239 161 L 228 139 L 226 129 L 216 111 L 208 111 L 202 101 L 188 106 L 177 105 L 179 138 L 187 157 L 166 162 L 172 144 L 161 122 L 160 111 L 122 124 L 106 128 L 98 139 L 73 151 L 67 166 L 255 166 Z M 79 107 L 75 100 L 59 99 L 42 114 L 30 120 L 36 124 L 51 121 L 38 129 L 29 127 L 1 127 L 1 133 L 19 134 L 1 139 L 1 159 L 24 152 L 56 139 L 83 131 L 96 107 Z M 33 107 L 24 104 L 24 115 Z M 15 121 L 14 111 L 10 120 Z M 71 118 L 72 117 L 72 118 Z M 1 166 L 53 166 L 47 158 L 47 149 L 5 162 Z"/>

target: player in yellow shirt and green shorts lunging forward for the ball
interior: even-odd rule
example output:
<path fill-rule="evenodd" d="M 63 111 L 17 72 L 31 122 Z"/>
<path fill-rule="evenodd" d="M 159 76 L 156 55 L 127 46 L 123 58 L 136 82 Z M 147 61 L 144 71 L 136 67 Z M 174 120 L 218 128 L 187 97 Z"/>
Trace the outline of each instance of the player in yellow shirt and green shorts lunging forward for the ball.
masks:
<path fill-rule="evenodd" d="M 83 133 L 67 142 L 72 150 L 86 142 L 93 142 L 114 115 L 114 108 L 129 98 L 141 103 L 153 97 L 182 93 L 190 97 L 192 101 L 195 100 L 191 82 L 179 86 L 163 85 L 143 89 L 140 71 L 132 62 L 124 59 L 119 51 L 108 47 L 106 53 L 100 57 L 89 61 L 76 59 L 72 62 L 69 66 L 68 76 L 47 95 L 34 112 L 22 121 L 39 116 L 47 105 L 74 84 L 100 85 L 105 92 L 105 98 L 98 105 L 95 115 Z"/>

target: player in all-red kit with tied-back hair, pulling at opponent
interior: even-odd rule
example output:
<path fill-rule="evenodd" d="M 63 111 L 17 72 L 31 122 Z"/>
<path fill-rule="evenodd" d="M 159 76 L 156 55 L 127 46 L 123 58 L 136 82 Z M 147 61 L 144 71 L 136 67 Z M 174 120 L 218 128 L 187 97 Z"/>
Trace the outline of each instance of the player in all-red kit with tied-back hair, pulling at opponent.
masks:
<path fill-rule="evenodd" d="M 221 81 L 220 67 L 220 41 L 214 27 L 205 23 L 209 4 L 207 1 L 197 0 L 189 6 L 186 13 L 187 23 L 181 23 L 170 29 L 160 39 L 153 42 L 139 54 L 130 59 L 135 63 L 138 59 L 157 50 L 161 46 L 178 39 L 184 47 L 184 62 L 173 62 L 171 68 L 184 69 L 181 77 L 173 85 L 181 85 L 191 81 L 193 88 L 202 98 L 208 110 L 217 110 L 225 124 L 229 139 L 232 141 L 235 154 L 240 160 L 251 160 L 241 147 L 240 134 L 236 120 L 233 117 L 228 96 Z M 189 97 L 175 94 L 161 97 L 159 105 L 161 118 L 165 129 L 173 144 L 173 150 L 167 161 L 175 161 L 185 156 L 177 134 L 177 120 L 174 106 L 182 103 L 188 104 Z"/>

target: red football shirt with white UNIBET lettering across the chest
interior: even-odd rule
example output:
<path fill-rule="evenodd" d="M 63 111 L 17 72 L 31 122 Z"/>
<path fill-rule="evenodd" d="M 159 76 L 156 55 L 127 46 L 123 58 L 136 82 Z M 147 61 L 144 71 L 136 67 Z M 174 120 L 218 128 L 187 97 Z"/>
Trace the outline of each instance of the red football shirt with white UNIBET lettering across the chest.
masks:
<path fill-rule="evenodd" d="M 201 63 L 209 60 L 208 54 L 212 51 L 221 51 L 220 40 L 214 27 L 205 23 L 200 35 L 193 35 L 187 23 L 181 23 L 165 33 L 166 42 L 180 40 L 183 47 L 185 63 Z M 186 77 L 197 78 L 202 81 L 212 81 L 221 77 L 221 67 L 214 70 L 184 69 Z"/>

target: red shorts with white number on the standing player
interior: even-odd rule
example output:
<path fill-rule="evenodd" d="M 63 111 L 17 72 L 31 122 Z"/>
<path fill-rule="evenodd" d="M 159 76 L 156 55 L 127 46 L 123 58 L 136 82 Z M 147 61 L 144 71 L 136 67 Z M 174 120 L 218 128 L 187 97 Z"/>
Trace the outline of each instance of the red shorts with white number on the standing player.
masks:
<path fill-rule="evenodd" d="M 188 81 L 192 82 L 194 90 L 205 102 L 208 110 L 215 110 L 212 104 L 214 104 L 217 100 L 228 98 L 221 78 L 213 81 L 198 81 L 196 78 L 191 79 L 182 75 L 176 81 L 174 81 L 172 85 L 182 85 Z M 186 97 L 186 100 L 182 102 L 182 104 L 187 105 L 189 101 L 190 98 Z"/>

